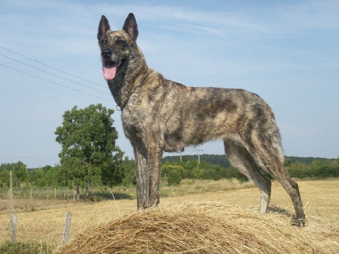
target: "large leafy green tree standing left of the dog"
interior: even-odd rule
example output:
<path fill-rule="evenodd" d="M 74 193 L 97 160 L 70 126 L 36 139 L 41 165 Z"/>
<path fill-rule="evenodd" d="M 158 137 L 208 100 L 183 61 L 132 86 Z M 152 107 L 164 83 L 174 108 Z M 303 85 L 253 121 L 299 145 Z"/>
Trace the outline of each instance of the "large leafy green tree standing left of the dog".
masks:
<path fill-rule="evenodd" d="M 121 181 L 122 152 L 116 146 L 118 133 L 113 126 L 113 109 L 101 104 L 84 109 L 74 106 L 63 114 L 62 125 L 55 132 L 61 144 L 61 174 L 75 181 L 77 193 L 81 182 L 87 183 L 86 196 L 91 195 L 92 178 L 107 176 Z M 64 179 L 65 181 L 66 179 Z M 107 182 L 107 177 L 104 177 Z"/>

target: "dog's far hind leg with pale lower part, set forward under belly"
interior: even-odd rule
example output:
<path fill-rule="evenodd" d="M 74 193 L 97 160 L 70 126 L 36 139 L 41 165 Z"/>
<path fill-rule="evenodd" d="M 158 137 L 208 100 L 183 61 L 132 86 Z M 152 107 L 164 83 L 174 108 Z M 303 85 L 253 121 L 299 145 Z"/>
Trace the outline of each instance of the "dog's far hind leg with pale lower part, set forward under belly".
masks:
<path fill-rule="evenodd" d="M 253 181 L 261 193 L 260 213 L 266 213 L 271 197 L 271 182 L 258 171 L 257 164 L 247 149 L 235 141 L 224 140 L 225 153 L 239 172 Z"/>

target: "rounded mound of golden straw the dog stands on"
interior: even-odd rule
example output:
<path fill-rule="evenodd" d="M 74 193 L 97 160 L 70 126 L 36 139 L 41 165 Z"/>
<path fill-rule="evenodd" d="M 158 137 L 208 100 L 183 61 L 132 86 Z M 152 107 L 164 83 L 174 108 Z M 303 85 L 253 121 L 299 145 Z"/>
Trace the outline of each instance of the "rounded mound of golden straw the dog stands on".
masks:
<path fill-rule="evenodd" d="M 57 253 L 339 253 L 339 225 L 312 217 L 298 228 L 281 214 L 185 202 L 88 229 Z"/>

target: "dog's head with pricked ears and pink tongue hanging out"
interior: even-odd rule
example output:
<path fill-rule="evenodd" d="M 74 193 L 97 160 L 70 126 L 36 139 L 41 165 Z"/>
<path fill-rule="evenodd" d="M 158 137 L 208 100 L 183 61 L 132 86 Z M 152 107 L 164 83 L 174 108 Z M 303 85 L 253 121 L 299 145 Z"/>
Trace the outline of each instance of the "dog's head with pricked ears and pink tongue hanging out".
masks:
<path fill-rule="evenodd" d="M 101 17 L 98 41 L 101 50 L 102 67 L 106 80 L 111 80 L 128 64 L 133 48 L 137 47 L 137 21 L 130 13 L 119 31 L 111 31 L 107 18 Z"/>

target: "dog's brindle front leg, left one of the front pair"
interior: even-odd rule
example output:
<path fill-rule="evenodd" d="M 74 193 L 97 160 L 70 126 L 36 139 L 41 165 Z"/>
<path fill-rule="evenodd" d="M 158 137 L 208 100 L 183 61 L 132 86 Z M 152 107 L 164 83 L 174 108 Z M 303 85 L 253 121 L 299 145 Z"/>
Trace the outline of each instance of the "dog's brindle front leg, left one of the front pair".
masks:
<path fill-rule="evenodd" d="M 136 176 L 137 176 L 137 208 L 143 209 L 148 206 L 149 199 L 149 164 L 148 152 L 142 142 L 133 144 Z"/>

